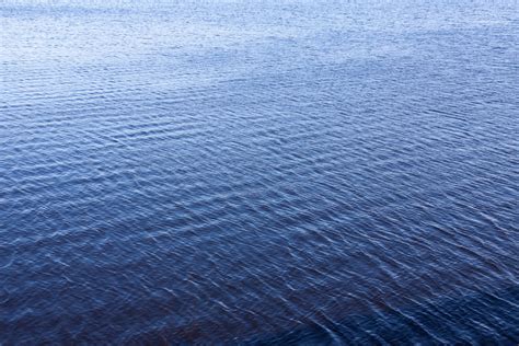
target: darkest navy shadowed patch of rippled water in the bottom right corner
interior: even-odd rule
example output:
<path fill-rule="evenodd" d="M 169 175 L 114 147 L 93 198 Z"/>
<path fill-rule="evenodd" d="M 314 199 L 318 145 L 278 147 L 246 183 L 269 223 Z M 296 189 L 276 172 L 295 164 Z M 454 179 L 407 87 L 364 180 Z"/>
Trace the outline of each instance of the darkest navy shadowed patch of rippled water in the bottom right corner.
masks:
<path fill-rule="evenodd" d="M 325 315 L 309 318 L 309 326 L 292 330 L 272 338 L 254 338 L 255 345 L 438 345 L 448 344 L 455 335 L 458 343 L 516 345 L 519 291 L 517 288 L 484 295 L 468 295 L 461 299 L 447 298 L 442 302 L 408 302 L 403 307 L 383 303 L 376 314 L 347 313 L 338 322 Z M 345 308 L 347 310 L 347 308 Z M 427 310 L 427 312 L 424 312 Z M 432 313 L 431 313 L 432 312 Z M 468 318 L 469 316 L 469 318 Z M 499 318 L 496 318 L 499 316 Z M 500 325 L 503 333 L 493 326 Z"/>

